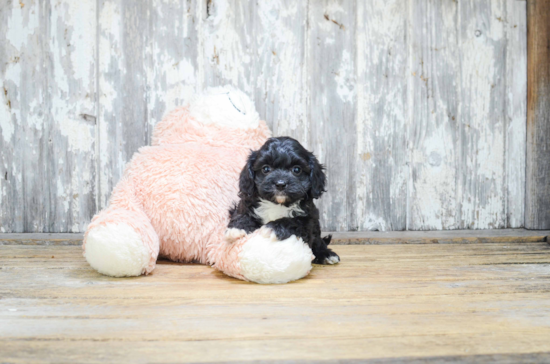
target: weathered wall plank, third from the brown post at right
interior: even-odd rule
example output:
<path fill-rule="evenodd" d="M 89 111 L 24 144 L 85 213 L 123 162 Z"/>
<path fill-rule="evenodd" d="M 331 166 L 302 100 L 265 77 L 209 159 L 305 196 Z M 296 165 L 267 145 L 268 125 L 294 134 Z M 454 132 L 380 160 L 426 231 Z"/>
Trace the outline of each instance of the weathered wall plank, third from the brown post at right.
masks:
<path fill-rule="evenodd" d="M 413 1 L 408 130 L 410 179 L 407 228 L 456 229 L 460 224 L 460 142 L 457 2 Z M 458 220 L 458 222 L 457 222 Z"/>

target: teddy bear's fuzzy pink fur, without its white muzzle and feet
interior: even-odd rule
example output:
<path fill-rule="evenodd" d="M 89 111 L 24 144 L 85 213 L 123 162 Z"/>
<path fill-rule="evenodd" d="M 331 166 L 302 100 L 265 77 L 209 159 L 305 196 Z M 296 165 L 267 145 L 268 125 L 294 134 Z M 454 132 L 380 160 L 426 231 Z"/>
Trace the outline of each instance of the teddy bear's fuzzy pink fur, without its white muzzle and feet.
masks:
<path fill-rule="evenodd" d="M 270 134 L 264 121 L 255 129 L 234 129 L 203 125 L 187 108 L 170 112 L 156 125 L 152 146 L 141 148 L 128 163 L 109 206 L 93 218 L 84 249 L 94 227 L 125 223 L 151 254 L 146 274 L 160 255 L 178 262 L 216 262 L 243 279 L 236 252 L 244 242 L 227 246 L 223 235 L 246 158 Z"/>

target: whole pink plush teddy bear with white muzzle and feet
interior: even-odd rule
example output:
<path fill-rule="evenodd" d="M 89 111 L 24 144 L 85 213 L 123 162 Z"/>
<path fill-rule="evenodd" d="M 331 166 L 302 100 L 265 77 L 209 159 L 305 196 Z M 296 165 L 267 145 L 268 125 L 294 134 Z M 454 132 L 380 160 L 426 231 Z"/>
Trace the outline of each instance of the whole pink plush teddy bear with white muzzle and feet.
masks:
<path fill-rule="evenodd" d="M 88 226 L 88 263 L 113 277 L 149 274 L 159 255 L 257 283 L 306 276 L 313 255 L 302 239 L 278 241 L 267 228 L 226 235 L 241 169 L 270 135 L 252 101 L 231 87 L 211 88 L 167 114 Z"/>

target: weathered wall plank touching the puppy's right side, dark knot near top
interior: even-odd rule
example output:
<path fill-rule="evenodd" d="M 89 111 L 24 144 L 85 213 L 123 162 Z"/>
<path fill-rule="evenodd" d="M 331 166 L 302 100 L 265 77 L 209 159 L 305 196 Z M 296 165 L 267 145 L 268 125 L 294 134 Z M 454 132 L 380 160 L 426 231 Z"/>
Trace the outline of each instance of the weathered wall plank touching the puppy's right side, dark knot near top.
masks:
<path fill-rule="evenodd" d="M 327 230 L 358 229 L 355 9 L 353 0 L 326 0 L 308 14 L 308 117 L 311 148 L 327 168 L 327 193 L 317 204 Z"/>

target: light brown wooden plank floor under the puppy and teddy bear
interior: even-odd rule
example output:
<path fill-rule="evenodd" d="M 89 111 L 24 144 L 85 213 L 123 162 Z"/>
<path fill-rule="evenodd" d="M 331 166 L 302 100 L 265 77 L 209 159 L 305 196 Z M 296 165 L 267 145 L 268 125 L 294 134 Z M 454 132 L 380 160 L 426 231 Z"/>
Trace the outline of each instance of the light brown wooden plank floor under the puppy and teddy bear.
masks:
<path fill-rule="evenodd" d="M 340 245 L 286 285 L 0 246 L 0 362 L 550 362 L 550 246 Z M 362 362 L 362 361 L 361 361 Z"/>

